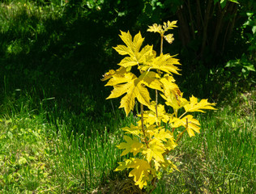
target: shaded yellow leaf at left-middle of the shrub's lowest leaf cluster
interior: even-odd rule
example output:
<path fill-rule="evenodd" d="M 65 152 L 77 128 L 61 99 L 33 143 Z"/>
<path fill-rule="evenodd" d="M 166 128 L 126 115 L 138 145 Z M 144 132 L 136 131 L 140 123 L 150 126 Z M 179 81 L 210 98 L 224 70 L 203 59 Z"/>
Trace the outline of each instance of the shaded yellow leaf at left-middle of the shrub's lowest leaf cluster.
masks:
<path fill-rule="evenodd" d="M 143 148 L 143 144 L 140 143 L 136 137 L 132 139 L 128 136 L 124 136 L 124 139 L 126 140 L 126 143 L 122 142 L 121 144 L 117 145 L 118 149 L 125 149 L 121 155 L 126 155 L 131 152 L 135 156 Z"/>

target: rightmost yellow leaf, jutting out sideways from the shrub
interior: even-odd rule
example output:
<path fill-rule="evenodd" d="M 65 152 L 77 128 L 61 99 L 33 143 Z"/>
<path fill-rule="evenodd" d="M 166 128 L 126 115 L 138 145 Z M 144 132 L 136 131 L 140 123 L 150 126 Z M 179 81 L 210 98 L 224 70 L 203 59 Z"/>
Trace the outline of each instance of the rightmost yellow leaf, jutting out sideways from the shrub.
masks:
<path fill-rule="evenodd" d="M 207 99 L 202 99 L 198 103 L 198 99 L 192 95 L 192 97 L 190 97 L 190 103 L 186 104 L 184 108 L 186 112 L 203 112 L 202 109 L 216 110 L 212 106 L 215 106 L 215 103 L 208 103 Z"/>

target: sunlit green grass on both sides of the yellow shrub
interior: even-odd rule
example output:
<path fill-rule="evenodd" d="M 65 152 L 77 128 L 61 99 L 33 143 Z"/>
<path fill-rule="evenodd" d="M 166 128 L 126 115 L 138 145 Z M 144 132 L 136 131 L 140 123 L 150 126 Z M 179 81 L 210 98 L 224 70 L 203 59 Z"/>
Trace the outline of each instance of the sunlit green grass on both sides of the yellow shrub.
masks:
<path fill-rule="evenodd" d="M 9 113 L 1 116 L 1 193 L 117 192 L 127 174 L 113 172 L 121 160 L 115 145 L 134 116 L 116 112 L 115 121 L 105 116 L 95 123 L 65 113 L 51 124 L 49 112 L 35 114 L 23 101 L 6 100 Z M 180 171 L 164 175 L 154 193 L 255 192 L 255 91 L 235 102 L 198 115 L 201 133 L 185 137 L 171 154 Z"/>

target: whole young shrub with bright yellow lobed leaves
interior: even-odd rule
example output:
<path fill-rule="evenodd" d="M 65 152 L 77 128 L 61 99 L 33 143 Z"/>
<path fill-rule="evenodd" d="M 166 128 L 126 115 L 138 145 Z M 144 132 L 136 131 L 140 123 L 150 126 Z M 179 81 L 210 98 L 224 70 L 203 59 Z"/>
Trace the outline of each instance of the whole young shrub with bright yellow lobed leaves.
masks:
<path fill-rule="evenodd" d="M 119 108 L 124 108 L 126 116 L 134 109 L 135 99 L 140 104 L 140 120 L 136 125 L 131 124 L 123 128 L 126 132 L 125 142 L 117 145 L 122 149 L 122 156 L 132 153 L 133 157 L 119 162 L 115 171 L 132 169 L 129 176 L 133 177 L 135 185 L 139 188 L 147 188 L 150 193 L 156 188 L 156 179 L 162 171 L 177 170 L 177 167 L 169 160 L 169 153 L 177 146 L 177 142 L 187 132 L 190 137 L 194 132 L 200 133 L 200 124 L 190 112 L 203 112 L 204 109 L 215 110 L 215 103 L 208 103 L 207 99 L 198 99 L 193 95 L 190 100 L 184 99 L 182 93 L 175 83 L 173 74 L 179 74 L 177 65 L 181 65 L 175 56 L 163 54 L 163 40 L 169 44 L 173 42 L 173 34 L 165 35 L 165 32 L 173 29 L 177 21 L 167 22 L 164 25 L 153 24 L 148 32 L 160 33 L 160 55 L 156 56 L 152 45 L 142 48 L 144 38 L 140 32 L 132 38 L 130 32 L 121 31 L 122 45 L 114 49 L 117 53 L 126 56 L 117 64 L 117 70 L 109 70 L 104 75 L 103 81 L 109 80 L 105 86 L 113 86 L 113 91 L 107 99 L 122 96 Z M 139 70 L 139 77 L 134 73 Z M 155 100 L 151 99 L 148 90 L 155 90 Z M 165 104 L 158 103 L 160 96 Z M 172 113 L 165 111 L 171 107 Z M 146 108 L 147 107 L 147 110 Z M 165 129 L 169 124 L 171 130 Z M 176 129 L 183 130 L 173 136 Z"/>

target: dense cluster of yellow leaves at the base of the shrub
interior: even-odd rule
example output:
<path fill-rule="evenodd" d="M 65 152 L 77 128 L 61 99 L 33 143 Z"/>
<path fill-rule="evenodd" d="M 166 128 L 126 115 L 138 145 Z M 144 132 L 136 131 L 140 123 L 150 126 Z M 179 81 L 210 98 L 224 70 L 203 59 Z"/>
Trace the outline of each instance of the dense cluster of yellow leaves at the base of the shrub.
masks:
<path fill-rule="evenodd" d="M 119 149 L 122 149 L 121 155 L 126 155 L 133 153 L 134 156 L 139 152 L 143 155 L 142 159 L 131 158 L 130 160 L 125 160 L 124 162 L 119 162 L 119 166 L 115 171 L 122 171 L 125 168 L 133 168 L 130 171 L 129 176 L 134 176 L 134 182 L 139 185 L 139 188 L 147 185 L 149 181 L 148 174 L 150 171 L 158 171 L 160 167 L 176 167 L 173 162 L 167 162 L 164 158 L 164 153 L 169 150 L 173 150 L 177 144 L 173 139 L 173 133 L 164 128 L 156 127 L 156 125 L 151 125 L 147 128 L 147 142 L 139 141 L 138 137 L 143 140 L 142 126 L 134 126 L 134 124 L 129 127 L 123 128 L 128 134 L 132 134 L 136 137 L 132 139 L 131 137 L 125 136 L 124 139 L 126 143 L 123 142 L 117 145 Z M 153 164 L 153 166 L 151 166 Z M 154 168 L 156 170 L 154 170 Z"/>

